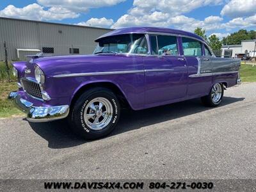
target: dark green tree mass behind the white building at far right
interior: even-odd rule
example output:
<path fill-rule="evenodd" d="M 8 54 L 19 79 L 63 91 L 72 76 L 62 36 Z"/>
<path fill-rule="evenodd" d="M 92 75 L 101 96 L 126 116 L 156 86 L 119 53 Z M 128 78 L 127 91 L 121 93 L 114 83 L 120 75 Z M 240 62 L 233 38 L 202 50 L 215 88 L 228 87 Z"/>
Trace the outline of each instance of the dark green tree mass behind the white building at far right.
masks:
<path fill-rule="evenodd" d="M 235 33 L 231 33 L 227 37 L 223 37 L 222 43 L 224 45 L 239 45 L 242 40 L 252 40 L 256 38 L 256 31 L 247 31 L 245 29 L 241 29 Z"/>

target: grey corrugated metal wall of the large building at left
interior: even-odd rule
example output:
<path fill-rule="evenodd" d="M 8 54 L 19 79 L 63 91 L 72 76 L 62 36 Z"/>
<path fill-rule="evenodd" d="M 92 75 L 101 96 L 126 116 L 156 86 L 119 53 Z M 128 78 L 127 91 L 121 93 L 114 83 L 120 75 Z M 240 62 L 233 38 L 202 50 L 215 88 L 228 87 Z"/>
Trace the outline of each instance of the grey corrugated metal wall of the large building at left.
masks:
<path fill-rule="evenodd" d="M 8 47 L 8 60 L 17 60 L 16 49 L 42 51 L 42 47 L 54 47 L 54 55 L 70 54 L 72 47 L 78 48 L 79 54 L 92 54 L 97 45 L 95 38 L 109 31 L 111 29 L 0 17 L 0 60 L 4 60 L 4 41 Z"/>

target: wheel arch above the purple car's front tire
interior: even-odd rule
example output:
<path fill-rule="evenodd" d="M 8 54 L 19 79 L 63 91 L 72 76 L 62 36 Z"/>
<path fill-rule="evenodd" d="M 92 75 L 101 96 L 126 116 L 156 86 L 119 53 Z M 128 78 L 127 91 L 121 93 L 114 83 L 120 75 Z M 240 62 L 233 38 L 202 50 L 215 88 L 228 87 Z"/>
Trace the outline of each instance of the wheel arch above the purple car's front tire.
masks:
<path fill-rule="evenodd" d="M 113 83 L 112 81 L 94 81 L 94 82 L 87 82 L 81 84 L 73 93 L 71 99 L 70 99 L 70 108 L 74 106 L 74 103 L 79 98 L 79 96 L 84 93 L 86 90 L 89 90 L 91 88 L 96 87 L 102 87 L 102 88 L 108 88 L 109 90 L 113 91 L 120 101 L 120 104 L 124 108 L 132 108 L 131 103 L 127 99 L 127 96 L 123 92 L 122 88 L 116 83 Z"/>

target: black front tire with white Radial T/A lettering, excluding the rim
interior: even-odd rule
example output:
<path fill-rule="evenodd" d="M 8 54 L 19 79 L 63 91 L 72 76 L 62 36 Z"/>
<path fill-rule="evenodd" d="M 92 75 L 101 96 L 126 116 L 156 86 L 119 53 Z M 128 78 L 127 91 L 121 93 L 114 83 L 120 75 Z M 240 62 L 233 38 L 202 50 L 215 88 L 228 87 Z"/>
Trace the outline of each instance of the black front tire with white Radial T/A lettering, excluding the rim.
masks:
<path fill-rule="evenodd" d="M 120 116 L 120 106 L 117 98 L 114 93 L 110 92 L 106 89 L 101 89 L 99 91 L 93 90 L 94 92 L 83 93 L 81 97 L 77 100 L 73 114 L 72 114 L 72 122 L 75 123 L 76 129 L 79 131 L 79 134 L 82 134 L 84 138 L 101 138 L 109 134 L 115 128 L 115 125 L 118 122 Z M 85 109 L 87 104 L 97 98 L 104 97 L 108 99 L 113 108 L 113 116 L 109 122 L 109 124 L 101 130 L 93 130 L 90 129 L 84 122 L 84 113 L 86 113 Z"/>

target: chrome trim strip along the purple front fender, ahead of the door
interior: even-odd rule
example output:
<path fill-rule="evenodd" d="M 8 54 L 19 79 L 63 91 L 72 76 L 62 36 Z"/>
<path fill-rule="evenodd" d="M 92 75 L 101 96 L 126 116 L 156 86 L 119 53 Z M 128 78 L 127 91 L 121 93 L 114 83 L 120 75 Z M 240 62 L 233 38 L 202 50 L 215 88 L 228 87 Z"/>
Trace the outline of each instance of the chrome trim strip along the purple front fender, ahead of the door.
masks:
<path fill-rule="evenodd" d="M 115 75 L 115 74 L 136 74 L 143 73 L 144 70 L 121 70 L 109 72 L 89 72 L 89 73 L 75 73 L 75 74 L 60 74 L 53 77 L 81 77 L 81 76 L 102 76 L 102 75 Z"/>

